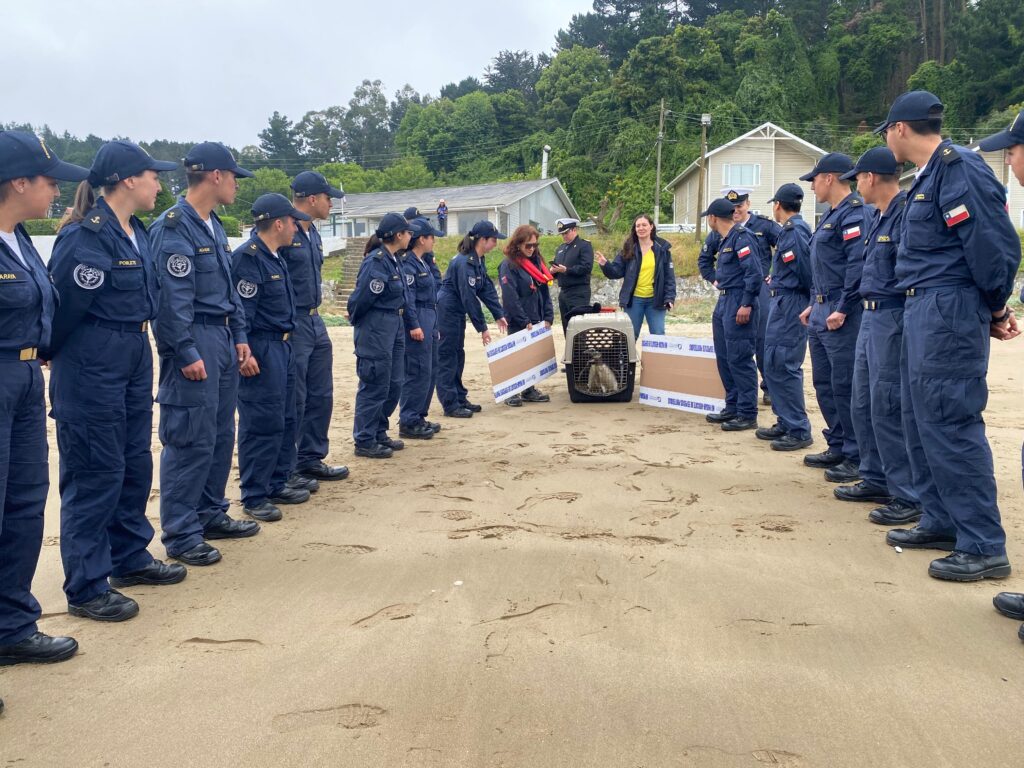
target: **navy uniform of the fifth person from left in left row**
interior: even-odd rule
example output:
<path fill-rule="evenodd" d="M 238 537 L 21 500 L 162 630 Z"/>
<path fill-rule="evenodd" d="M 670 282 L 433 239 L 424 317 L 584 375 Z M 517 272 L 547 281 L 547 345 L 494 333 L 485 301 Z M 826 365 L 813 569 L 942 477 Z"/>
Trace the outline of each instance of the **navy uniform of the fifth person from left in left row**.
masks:
<path fill-rule="evenodd" d="M 281 249 L 295 297 L 296 461 L 297 471 L 318 467 L 330 451 L 328 428 L 334 411 L 334 347 L 319 316 L 323 302 L 324 242 L 312 224 L 298 223 L 292 245 Z"/>

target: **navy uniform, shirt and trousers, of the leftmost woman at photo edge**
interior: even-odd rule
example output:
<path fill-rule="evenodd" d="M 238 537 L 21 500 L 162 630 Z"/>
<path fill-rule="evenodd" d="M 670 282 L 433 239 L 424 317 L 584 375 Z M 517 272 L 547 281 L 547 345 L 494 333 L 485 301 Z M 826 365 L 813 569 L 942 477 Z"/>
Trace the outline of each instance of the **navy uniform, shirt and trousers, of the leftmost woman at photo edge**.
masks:
<path fill-rule="evenodd" d="M 24 263 L 0 241 L 0 644 L 37 631 L 32 596 L 50 486 L 38 349 L 49 346 L 57 294 L 25 228 Z"/>

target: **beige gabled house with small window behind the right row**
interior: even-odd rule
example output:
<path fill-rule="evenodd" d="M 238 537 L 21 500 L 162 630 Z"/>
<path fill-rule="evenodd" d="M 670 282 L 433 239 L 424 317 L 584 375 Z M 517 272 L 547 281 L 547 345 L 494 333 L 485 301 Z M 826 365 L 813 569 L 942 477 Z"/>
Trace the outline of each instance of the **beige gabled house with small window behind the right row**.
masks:
<path fill-rule="evenodd" d="M 814 196 L 811 185 L 800 176 L 814 167 L 825 151 L 811 144 L 774 123 L 764 123 L 753 131 L 737 136 L 726 144 L 708 153 L 708 172 L 705 176 L 705 206 L 721 197 L 725 186 L 745 186 L 751 194 L 751 210 L 771 215 L 768 201 L 775 190 L 786 182 L 804 187 L 804 218 L 813 226 L 816 223 Z M 700 169 L 696 161 L 676 176 L 665 187 L 672 194 L 673 221 L 677 224 L 695 224 L 700 215 L 697 208 L 697 186 Z"/>

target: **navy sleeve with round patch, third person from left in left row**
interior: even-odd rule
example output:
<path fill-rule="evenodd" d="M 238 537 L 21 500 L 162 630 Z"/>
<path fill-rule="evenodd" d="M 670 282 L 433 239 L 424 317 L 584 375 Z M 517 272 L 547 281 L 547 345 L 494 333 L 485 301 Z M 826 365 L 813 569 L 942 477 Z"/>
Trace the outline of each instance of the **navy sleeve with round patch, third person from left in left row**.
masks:
<path fill-rule="evenodd" d="M 160 284 L 160 308 L 154 333 L 161 345 L 174 353 L 175 365 L 184 368 L 202 359 L 191 333 L 196 300 L 195 249 L 177 228 L 169 229 L 162 222 L 155 224 L 151 233 Z M 173 271 L 168 268 L 171 264 Z"/>

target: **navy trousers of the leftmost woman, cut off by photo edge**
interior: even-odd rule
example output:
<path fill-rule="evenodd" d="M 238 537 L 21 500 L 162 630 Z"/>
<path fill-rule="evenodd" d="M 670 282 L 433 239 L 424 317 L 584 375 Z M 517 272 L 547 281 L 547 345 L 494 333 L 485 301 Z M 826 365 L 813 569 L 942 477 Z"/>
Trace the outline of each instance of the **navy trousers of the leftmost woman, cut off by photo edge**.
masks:
<path fill-rule="evenodd" d="M 39 364 L 0 360 L 0 643 L 36 632 L 32 596 L 50 486 Z"/>

